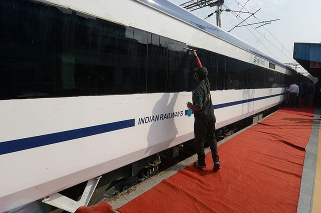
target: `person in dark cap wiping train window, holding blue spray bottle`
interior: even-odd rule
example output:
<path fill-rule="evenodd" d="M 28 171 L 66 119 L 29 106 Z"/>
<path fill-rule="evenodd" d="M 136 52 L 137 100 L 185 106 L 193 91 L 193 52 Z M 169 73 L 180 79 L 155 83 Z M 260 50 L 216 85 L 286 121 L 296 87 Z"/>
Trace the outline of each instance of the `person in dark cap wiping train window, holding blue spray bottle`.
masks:
<path fill-rule="evenodd" d="M 188 102 L 187 107 L 194 110 L 194 136 L 196 143 L 196 153 L 198 161 L 194 162 L 194 166 L 198 168 L 205 168 L 205 151 L 204 151 L 204 138 L 210 145 L 212 151 L 212 159 L 214 162 L 213 170 L 220 169 L 220 160 L 217 151 L 217 140 L 215 137 L 215 122 L 210 81 L 207 78 L 208 70 L 202 66 L 196 51 L 192 50 L 193 55 L 196 57 L 197 68 L 194 77 L 196 83 L 192 90 L 193 103 Z"/>

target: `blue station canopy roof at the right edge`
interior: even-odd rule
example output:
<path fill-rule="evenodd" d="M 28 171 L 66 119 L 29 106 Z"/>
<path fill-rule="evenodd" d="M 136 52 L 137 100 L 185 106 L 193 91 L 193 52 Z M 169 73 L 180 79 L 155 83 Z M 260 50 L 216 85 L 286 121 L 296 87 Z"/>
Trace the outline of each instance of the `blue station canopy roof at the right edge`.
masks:
<path fill-rule="evenodd" d="M 293 58 L 313 77 L 321 75 L 321 43 L 294 43 Z"/>

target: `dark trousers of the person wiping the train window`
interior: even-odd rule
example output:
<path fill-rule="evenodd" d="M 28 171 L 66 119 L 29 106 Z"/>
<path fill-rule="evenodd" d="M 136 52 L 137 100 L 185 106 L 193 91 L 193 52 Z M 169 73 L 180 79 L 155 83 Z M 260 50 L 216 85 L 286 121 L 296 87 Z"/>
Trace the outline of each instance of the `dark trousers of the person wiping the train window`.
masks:
<path fill-rule="evenodd" d="M 205 152 L 204 152 L 204 139 L 207 138 L 207 142 L 212 151 L 212 158 L 214 162 L 219 162 L 219 155 L 217 153 L 217 140 L 215 137 L 215 122 L 216 118 L 207 122 L 202 120 L 194 121 L 194 136 L 196 144 L 196 153 L 199 165 L 205 164 Z"/>

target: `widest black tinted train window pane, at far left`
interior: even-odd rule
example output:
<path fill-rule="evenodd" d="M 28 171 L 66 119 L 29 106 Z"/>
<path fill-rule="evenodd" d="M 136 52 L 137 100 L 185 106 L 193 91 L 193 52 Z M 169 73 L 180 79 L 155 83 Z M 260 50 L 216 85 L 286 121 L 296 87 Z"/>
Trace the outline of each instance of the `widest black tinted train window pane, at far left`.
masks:
<path fill-rule="evenodd" d="M 1 2 L 0 26 L 0 98 L 146 92 L 144 31 L 21 0 Z"/>

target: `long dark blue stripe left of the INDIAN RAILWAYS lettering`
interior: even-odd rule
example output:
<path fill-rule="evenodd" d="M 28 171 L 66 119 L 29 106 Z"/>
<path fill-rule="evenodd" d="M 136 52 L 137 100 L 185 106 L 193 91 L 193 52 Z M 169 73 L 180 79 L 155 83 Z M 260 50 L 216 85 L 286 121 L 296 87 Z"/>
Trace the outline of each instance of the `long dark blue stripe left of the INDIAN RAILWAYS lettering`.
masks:
<path fill-rule="evenodd" d="M 135 119 L 0 142 L 0 155 L 135 126 Z"/>

